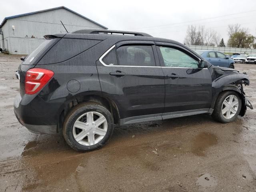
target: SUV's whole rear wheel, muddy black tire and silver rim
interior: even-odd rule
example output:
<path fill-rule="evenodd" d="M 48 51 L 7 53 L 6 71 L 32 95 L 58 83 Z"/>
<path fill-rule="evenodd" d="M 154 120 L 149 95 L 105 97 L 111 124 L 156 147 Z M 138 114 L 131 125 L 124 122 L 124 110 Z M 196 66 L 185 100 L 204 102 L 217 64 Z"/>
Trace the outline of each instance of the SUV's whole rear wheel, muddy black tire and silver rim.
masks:
<path fill-rule="evenodd" d="M 75 106 L 65 118 L 63 136 L 71 148 L 86 152 L 104 146 L 113 130 L 113 117 L 104 106 L 82 103 Z"/>

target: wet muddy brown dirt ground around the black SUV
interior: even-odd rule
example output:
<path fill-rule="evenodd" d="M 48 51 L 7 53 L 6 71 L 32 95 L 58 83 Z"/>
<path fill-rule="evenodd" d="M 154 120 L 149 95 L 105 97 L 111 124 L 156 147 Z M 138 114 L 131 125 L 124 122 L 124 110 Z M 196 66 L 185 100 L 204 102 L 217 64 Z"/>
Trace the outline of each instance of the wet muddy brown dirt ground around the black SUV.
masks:
<path fill-rule="evenodd" d="M 256 191 L 255 109 L 230 124 L 196 115 L 115 126 L 106 146 L 79 153 L 16 120 L 19 58 L 0 54 L 0 191 Z M 235 68 L 249 74 L 256 108 L 256 65 Z"/>

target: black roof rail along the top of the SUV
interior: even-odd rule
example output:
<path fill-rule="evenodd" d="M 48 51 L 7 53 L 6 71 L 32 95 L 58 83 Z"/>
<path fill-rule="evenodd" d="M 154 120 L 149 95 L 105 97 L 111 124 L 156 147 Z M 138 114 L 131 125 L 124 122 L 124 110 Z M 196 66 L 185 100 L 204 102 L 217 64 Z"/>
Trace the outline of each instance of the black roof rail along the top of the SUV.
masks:
<path fill-rule="evenodd" d="M 74 31 L 74 32 L 72 32 L 72 33 L 75 33 L 75 34 L 134 35 L 134 36 L 152 37 L 150 34 L 147 34 L 147 33 L 131 32 L 131 31 L 118 31 L 118 30 L 92 30 L 92 29 L 82 29 L 82 30 Z"/>

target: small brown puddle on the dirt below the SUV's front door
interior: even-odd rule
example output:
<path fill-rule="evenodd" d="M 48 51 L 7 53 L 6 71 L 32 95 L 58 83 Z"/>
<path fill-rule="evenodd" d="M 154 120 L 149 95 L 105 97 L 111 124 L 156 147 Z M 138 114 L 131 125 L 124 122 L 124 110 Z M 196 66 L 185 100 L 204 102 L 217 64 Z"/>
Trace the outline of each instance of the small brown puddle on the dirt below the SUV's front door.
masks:
<path fill-rule="evenodd" d="M 197 156 L 205 156 L 205 150 L 217 142 L 218 138 L 214 134 L 202 132 L 196 136 L 192 144 L 192 153 Z"/>

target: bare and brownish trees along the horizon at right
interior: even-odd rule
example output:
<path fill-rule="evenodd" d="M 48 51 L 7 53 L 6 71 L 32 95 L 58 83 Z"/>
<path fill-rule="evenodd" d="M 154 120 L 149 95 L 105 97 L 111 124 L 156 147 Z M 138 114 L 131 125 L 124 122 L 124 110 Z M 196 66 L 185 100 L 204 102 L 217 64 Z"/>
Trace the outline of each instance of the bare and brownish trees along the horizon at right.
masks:
<path fill-rule="evenodd" d="M 228 25 L 228 47 L 256 49 L 256 37 L 240 24 Z M 204 26 L 190 25 L 184 40 L 185 45 L 225 47 L 224 39 L 215 30 Z"/>

